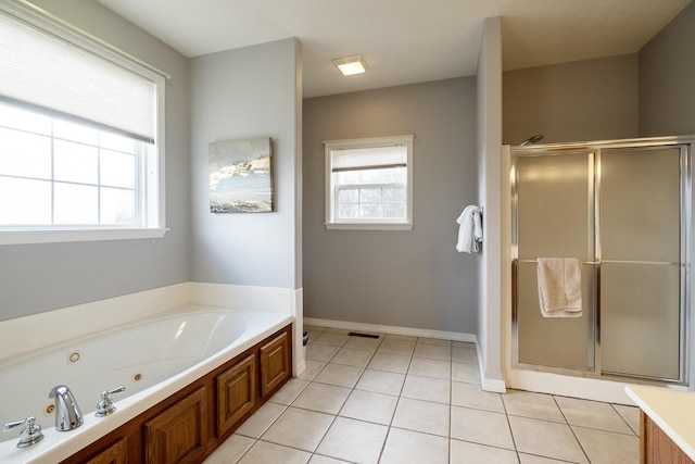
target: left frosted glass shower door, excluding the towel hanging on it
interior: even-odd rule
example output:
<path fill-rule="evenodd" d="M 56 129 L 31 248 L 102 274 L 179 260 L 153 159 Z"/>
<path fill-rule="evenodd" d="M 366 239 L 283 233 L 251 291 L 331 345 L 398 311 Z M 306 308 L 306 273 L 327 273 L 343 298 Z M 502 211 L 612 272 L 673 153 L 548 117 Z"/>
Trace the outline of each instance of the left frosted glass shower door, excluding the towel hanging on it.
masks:
<path fill-rule="evenodd" d="M 518 363 L 594 368 L 594 154 L 518 156 L 516 321 Z M 582 316 L 543 317 L 536 258 L 582 262 Z"/>

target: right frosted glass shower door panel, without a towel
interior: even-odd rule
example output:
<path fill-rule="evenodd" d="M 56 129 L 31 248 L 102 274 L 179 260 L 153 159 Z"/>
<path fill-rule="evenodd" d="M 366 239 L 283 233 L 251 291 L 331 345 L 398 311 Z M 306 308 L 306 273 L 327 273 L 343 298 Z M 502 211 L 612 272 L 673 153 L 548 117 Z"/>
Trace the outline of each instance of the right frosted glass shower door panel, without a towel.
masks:
<path fill-rule="evenodd" d="M 604 374 L 669 380 L 681 376 L 681 151 L 664 147 L 601 152 Z"/>

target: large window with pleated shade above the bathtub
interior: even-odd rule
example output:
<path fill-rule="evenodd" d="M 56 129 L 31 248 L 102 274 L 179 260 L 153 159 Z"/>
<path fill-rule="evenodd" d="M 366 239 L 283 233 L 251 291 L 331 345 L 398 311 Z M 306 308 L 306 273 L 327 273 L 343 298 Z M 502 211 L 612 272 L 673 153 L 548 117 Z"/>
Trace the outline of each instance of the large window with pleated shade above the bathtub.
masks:
<path fill-rule="evenodd" d="M 0 243 L 161 237 L 164 78 L 0 0 Z"/>

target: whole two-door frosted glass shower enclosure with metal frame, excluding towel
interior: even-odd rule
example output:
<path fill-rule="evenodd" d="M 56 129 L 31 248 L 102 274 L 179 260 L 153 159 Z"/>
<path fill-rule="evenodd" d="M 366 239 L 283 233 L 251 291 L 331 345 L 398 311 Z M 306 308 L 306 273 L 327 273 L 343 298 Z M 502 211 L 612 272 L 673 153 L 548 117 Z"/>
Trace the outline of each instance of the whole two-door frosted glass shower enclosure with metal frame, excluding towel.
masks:
<path fill-rule="evenodd" d="M 513 363 L 687 383 L 691 141 L 511 148 Z M 545 317 L 536 259 L 581 263 L 582 315 Z"/>

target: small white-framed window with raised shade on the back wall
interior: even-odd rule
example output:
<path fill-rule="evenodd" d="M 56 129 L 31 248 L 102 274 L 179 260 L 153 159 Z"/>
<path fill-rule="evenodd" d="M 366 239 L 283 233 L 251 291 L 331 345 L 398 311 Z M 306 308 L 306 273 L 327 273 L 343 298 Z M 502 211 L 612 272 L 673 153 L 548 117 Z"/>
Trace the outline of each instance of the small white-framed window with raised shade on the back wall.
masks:
<path fill-rule="evenodd" d="M 326 227 L 413 228 L 413 136 L 325 142 Z"/>

